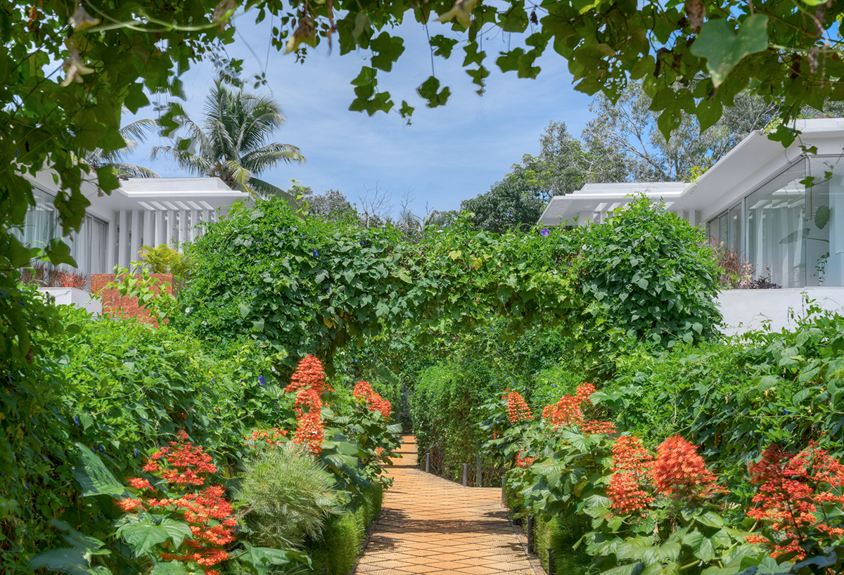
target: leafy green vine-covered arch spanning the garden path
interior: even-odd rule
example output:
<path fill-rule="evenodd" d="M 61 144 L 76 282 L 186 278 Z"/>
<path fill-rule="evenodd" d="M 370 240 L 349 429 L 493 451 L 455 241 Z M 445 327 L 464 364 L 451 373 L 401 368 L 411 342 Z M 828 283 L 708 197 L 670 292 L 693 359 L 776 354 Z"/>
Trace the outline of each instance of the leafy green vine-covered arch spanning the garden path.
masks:
<path fill-rule="evenodd" d="M 720 316 L 700 232 L 640 198 L 608 222 L 486 234 L 467 222 L 409 242 L 392 228 L 297 218 L 286 202 L 235 207 L 192 246 L 175 320 L 208 341 L 248 336 L 329 367 L 341 347 L 390 330 L 431 343 L 490 316 L 507 333 L 565 324 L 588 351 L 605 333 L 700 341 Z M 597 351 L 597 350 L 596 350 Z M 292 368 L 292 366 L 290 366 Z"/>

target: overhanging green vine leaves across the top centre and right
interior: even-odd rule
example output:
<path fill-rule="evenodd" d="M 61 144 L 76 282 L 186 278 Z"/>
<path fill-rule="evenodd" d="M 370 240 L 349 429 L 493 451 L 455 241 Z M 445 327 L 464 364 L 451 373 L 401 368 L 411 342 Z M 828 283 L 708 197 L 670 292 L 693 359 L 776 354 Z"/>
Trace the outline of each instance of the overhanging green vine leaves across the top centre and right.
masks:
<path fill-rule="evenodd" d="M 826 100 L 844 99 L 841 3 L 360 0 L 287 6 L 271 0 L 250 5 L 258 7 L 258 19 L 273 13 L 291 27 L 298 21 L 286 44 L 291 50 L 303 41 L 313 46 L 331 40 L 336 30 L 341 54 L 358 48 L 371 51 L 370 65 L 352 81 L 357 97 L 349 108 L 369 114 L 396 106 L 391 94 L 378 90 L 377 75 L 392 70 L 404 51 L 403 39 L 393 26 L 408 18 L 408 12 L 428 24 L 435 54 L 448 58 L 459 53 L 481 89 L 489 76 L 488 58 L 495 58 L 503 72 L 536 78 L 541 73 L 537 58 L 551 50 L 568 62 L 575 88 L 586 94 L 601 92 L 614 102 L 630 81 L 641 81 L 666 139 L 681 125 L 684 113 L 694 116 L 701 130 L 715 125 L 744 89 L 776 103 L 783 123 L 774 137 L 783 142 L 793 141 L 795 133 L 787 121 L 797 117 L 803 106 L 822 110 Z M 346 12 L 335 21 L 333 8 Z M 443 30 L 447 35 L 437 30 L 441 24 L 431 22 L 437 14 L 450 28 Z M 488 55 L 482 39 L 495 28 L 515 35 L 516 46 L 510 48 L 508 43 L 507 51 Z M 275 41 L 281 46 L 290 33 L 279 32 Z M 451 94 L 435 76 L 417 91 L 429 107 L 445 104 Z M 403 101 L 399 112 L 407 116 L 413 108 Z"/>

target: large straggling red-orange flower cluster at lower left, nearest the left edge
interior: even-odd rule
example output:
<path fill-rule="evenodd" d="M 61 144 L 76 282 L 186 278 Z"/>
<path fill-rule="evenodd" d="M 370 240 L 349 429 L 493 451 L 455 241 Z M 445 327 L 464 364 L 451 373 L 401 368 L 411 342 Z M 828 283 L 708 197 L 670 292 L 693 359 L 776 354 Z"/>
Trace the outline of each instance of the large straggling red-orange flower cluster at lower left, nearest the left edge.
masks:
<path fill-rule="evenodd" d="M 225 499 L 223 486 L 206 486 L 210 479 L 208 474 L 217 470 L 210 456 L 188 441 L 184 431 L 178 433 L 178 438 L 180 441 L 170 442 L 170 447 L 154 453 L 143 469 L 164 479 L 171 487 L 192 489 L 182 492 L 179 497 L 128 498 L 118 501 L 117 505 L 127 513 L 141 509 L 151 513 L 159 510 L 185 521 L 191 529 L 192 537 L 184 540 L 179 549 L 162 551 L 161 558 L 165 561 L 195 562 L 203 567 L 206 575 L 219 575 L 215 569 L 204 567 L 213 567 L 229 558 L 225 545 L 235 540 L 237 519 Z M 148 480 L 133 477 L 128 483 L 139 491 L 154 494 L 154 487 Z M 201 486 L 203 489 L 193 486 Z"/>

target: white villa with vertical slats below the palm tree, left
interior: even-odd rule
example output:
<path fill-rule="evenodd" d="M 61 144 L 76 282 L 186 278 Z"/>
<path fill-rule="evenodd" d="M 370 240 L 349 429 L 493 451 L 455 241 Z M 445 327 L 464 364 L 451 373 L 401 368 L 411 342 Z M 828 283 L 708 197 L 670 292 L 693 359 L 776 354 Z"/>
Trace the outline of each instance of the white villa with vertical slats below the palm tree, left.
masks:
<path fill-rule="evenodd" d="M 24 243 L 45 245 L 61 235 L 57 224 L 56 184 L 50 172 L 30 178 L 36 206 L 26 214 Z M 126 268 L 139 261 L 143 245 L 181 246 L 203 233 L 203 224 L 215 222 L 235 202 L 249 195 L 233 191 L 219 178 L 140 178 L 121 180 L 110 196 L 96 185 L 83 182 L 91 205 L 84 223 L 68 241 L 77 270 L 83 276 L 110 273 L 114 266 Z"/>

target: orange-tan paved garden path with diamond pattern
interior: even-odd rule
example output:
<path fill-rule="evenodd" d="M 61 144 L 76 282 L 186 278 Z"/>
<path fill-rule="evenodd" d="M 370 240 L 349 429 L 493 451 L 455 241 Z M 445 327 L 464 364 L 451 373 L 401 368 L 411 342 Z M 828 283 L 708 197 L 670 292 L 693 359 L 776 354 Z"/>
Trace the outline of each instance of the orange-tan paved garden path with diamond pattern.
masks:
<path fill-rule="evenodd" d="M 390 470 L 376 529 L 355 570 L 360 575 L 535 575 L 497 488 L 463 487 L 416 466 L 416 440 L 404 436 Z"/>

